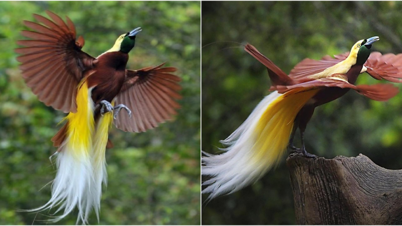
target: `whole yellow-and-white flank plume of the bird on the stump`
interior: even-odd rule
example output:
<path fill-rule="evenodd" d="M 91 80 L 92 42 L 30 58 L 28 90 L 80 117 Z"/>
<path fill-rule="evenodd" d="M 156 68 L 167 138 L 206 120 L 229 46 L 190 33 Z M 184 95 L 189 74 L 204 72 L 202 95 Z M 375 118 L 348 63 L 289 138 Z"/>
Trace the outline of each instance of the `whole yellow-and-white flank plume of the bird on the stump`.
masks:
<path fill-rule="evenodd" d="M 260 179 L 275 166 L 286 150 L 294 118 L 317 92 L 272 92 L 253 110 L 247 120 L 226 140 L 220 155 L 202 158 L 202 174 L 211 176 L 202 193 L 209 199 L 233 193 Z"/>

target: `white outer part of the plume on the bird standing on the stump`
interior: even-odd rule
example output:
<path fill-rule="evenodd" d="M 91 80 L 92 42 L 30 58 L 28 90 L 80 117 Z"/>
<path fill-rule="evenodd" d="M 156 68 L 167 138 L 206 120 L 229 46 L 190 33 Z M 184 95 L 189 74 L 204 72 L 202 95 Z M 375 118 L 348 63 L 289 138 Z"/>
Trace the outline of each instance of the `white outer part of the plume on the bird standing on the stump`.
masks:
<path fill-rule="evenodd" d="M 225 151 L 223 154 L 208 154 L 207 157 L 202 158 L 204 163 L 202 174 L 213 176 L 203 182 L 203 185 L 209 185 L 202 191 L 202 193 L 211 193 L 209 199 L 238 191 L 262 176 L 250 168 L 253 164 L 248 162 L 252 154 L 249 150 L 252 149 L 253 140 L 255 140 L 252 138 L 254 137 L 253 128 L 256 127 L 267 106 L 280 95 L 282 94 L 275 91 L 265 96 L 247 120 L 227 139 L 221 141 L 222 144 L 229 145 L 221 149 Z"/>

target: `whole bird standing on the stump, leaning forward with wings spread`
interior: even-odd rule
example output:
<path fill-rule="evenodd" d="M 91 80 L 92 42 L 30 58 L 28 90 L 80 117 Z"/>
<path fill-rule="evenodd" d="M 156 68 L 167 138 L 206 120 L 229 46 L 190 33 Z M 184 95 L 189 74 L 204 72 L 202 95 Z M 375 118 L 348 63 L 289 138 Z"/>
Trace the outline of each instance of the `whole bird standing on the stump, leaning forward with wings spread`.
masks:
<path fill-rule="evenodd" d="M 209 199 L 233 193 L 257 181 L 277 165 L 286 153 L 302 153 L 309 158 L 316 156 L 306 151 L 304 132 L 314 109 L 335 100 L 350 89 L 368 98 L 385 101 L 398 93 L 391 84 L 354 85 L 360 73 L 367 72 L 376 79 L 402 82 L 402 54 L 371 53 L 372 37 L 358 41 L 350 53 L 325 56 L 321 60 L 305 59 L 287 75 L 254 46 L 245 50 L 268 69 L 273 91 L 253 110 L 247 120 L 226 140 L 220 155 L 205 153 L 202 157 L 202 174 L 210 176 L 203 182 L 203 193 Z M 293 146 L 297 128 L 302 147 Z"/>

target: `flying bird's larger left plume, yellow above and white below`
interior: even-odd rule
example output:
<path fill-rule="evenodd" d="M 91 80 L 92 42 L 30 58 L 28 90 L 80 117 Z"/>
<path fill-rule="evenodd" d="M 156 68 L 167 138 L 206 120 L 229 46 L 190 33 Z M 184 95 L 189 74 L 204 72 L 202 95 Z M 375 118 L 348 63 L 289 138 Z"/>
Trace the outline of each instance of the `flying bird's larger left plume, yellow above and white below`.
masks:
<path fill-rule="evenodd" d="M 57 207 L 50 222 L 64 218 L 75 207 L 78 208 L 77 224 L 87 223 L 87 217 L 94 199 L 89 191 L 94 184 L 90 152 L 93 136 L 93 102 L 91 89 L 86 83 L 81 85 L 77 94 L 77 112 L 70 113 L 66 119 L 69 127 L 63 144 L 56 152 L 57 173 L 52 183 L 52 197 L 43 206 L 28 211 L 43 211 Z M 64 209 L 64 210 L 63 210 Z"/>

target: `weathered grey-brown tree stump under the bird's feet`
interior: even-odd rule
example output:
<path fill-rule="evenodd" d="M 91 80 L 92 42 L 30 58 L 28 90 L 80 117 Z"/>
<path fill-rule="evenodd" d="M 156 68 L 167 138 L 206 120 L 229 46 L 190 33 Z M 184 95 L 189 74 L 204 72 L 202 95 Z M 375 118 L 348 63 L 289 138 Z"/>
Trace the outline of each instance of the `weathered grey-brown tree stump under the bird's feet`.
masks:
<path fill-rule="evenodd" d="M 402 224 L 402 170 L 368 157 L 286 159 L 297 224 Z"/>

